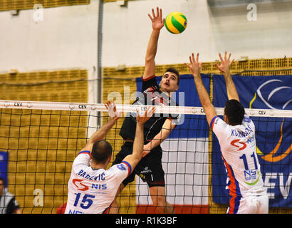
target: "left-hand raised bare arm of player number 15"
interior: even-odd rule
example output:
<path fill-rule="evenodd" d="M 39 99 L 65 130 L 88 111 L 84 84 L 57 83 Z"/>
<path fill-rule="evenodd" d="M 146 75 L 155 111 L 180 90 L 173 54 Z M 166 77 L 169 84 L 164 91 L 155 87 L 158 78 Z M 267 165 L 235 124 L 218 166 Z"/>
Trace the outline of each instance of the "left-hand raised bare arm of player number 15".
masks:
<path fill-rule="evenodd" d="M 93 148 L 93 144 L 95 142 L 98 142 L 99 140 L 103 140 L 105 138 L 105 135 L 108 133 L 108 131 L 113 128 L 113 125 L 117 122 L 117 120 L 120 118 L 120 113 L 117 112 L 115 103 L 107 101 L 105 103 L 105 107 L 108 109 L 108 113 L 110 115 L 110 120 L 108 120 L 108 123 L 105 123 L 98 131 L 93 133 L 89 140 L 87 141 L 85 147 L 83 150 L 89 150 L 91 151 Z"/>

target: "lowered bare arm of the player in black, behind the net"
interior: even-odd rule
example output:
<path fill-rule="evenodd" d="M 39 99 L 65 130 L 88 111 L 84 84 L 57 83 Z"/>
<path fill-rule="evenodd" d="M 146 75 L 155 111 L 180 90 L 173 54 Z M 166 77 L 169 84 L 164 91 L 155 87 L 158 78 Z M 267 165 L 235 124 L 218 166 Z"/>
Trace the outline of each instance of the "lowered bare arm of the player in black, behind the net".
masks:
<path fill-rule="evenodd" d="M 165 123 L 162 125 L 160 133 L 155 135 L 151 142 L 148 142 L 146 145 L 144 145 L 144 152 L 142 157 L 145 157 L 150 153 L 150 150 L 160 145 L 160 143 L 163 142 L 168 137 L 168 135 L 170 135 L 170 132 L 175 128 L 175 126 L 176 125 L 172 124 L 172 120 L 166 119 Z"/>

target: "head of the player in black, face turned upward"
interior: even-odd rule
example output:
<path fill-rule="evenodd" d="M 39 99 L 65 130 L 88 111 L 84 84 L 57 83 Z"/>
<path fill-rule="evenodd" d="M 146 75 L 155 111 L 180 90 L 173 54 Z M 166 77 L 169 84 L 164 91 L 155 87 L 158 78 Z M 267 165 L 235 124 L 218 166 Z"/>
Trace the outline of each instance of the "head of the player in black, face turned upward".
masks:
<path fill-rule="evenodd" d="M 162 91 L 175 92 L 179 88 L 179 71 L 175 68 L 167 68 L 160 81 Z"/>

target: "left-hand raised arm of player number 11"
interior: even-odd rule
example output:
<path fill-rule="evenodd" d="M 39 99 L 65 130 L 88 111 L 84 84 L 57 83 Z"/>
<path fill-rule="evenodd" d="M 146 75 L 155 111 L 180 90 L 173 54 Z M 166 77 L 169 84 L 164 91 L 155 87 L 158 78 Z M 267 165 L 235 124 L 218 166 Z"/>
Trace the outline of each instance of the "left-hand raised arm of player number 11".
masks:
<path fill-rule="evenodd" d="M 194 84 L 197 88 L 197 93 L 199 95 L 199 100 L 201 101 L 201 104 L 204 108 L 204 112 L 206 114 L 207 122 L 210 125 L 212 119 L 217 115 L 216 110 L 214 108 L 214 105 L 212 104 L 209 93 L 207 92 L 204 83 L 202 81 L 201 77 L 201 68 L 202 63 L 199 63 L 199 53 L 197 53 L 197 58 L 194 59 L 194 53 L 192 53 L 192 56 L 189 56 L 189 64 L 184 63 L 189 70 L 191 71 L 192 75 L 194 76 Z"/>

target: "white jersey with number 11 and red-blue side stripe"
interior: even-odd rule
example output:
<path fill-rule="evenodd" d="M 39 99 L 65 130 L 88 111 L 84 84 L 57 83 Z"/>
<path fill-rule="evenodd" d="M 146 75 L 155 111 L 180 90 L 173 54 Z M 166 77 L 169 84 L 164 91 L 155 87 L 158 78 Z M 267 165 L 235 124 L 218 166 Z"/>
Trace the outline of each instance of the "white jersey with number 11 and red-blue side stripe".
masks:
<path fill-rule="evenodd" d="M 211 128 L 219 140 L 227 171 L 227 187 L 231 197 L 264 195 L 266 189 L 256 155 L 255 126 L 248 115 L 241 125 L 231 126 L 215 116 Z"/>

